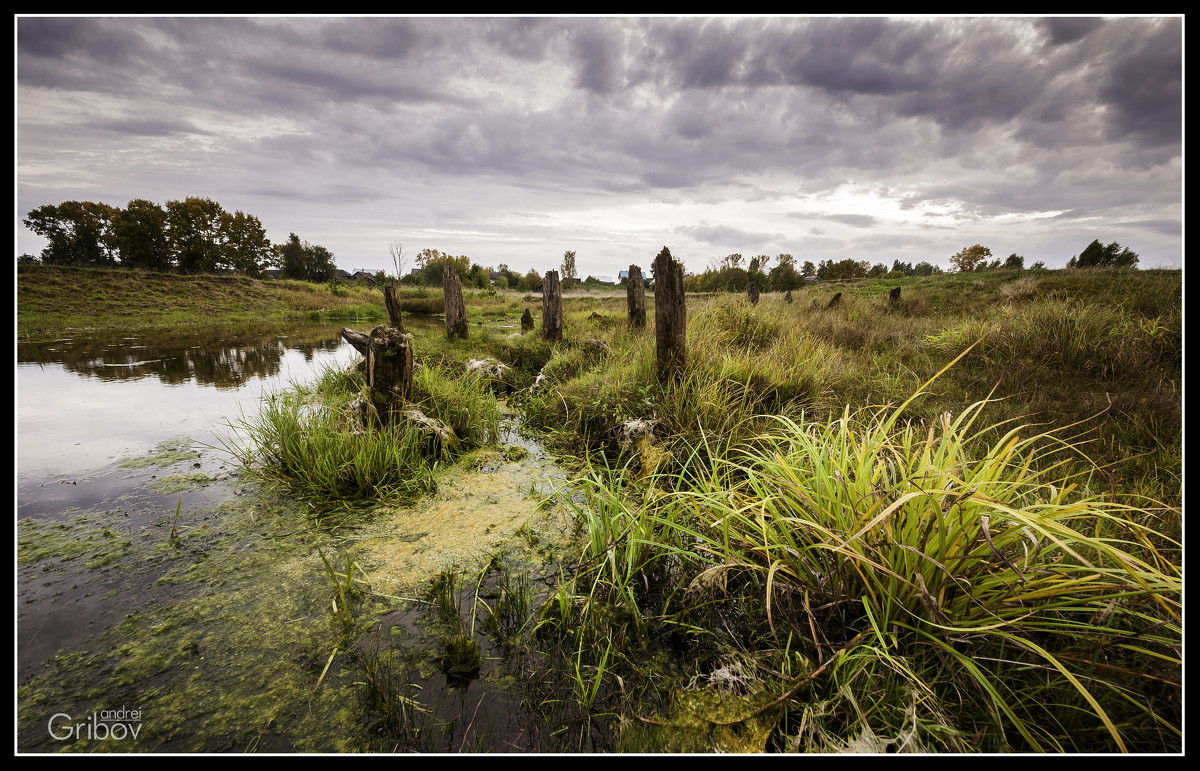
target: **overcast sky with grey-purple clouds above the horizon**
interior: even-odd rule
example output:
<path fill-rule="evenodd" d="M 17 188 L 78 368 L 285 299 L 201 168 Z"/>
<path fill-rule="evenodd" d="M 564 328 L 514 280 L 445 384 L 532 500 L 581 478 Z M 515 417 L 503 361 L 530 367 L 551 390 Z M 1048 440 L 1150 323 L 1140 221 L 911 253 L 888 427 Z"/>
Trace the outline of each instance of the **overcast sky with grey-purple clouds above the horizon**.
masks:
<path fill-rule="evenodd" d="M 731 252 L 1182 265 L 1183 19 L 14 19 L 22 220 L 212 198 L 521 273 Z M 412 267 L 412 261 L 410 261 Z"/>

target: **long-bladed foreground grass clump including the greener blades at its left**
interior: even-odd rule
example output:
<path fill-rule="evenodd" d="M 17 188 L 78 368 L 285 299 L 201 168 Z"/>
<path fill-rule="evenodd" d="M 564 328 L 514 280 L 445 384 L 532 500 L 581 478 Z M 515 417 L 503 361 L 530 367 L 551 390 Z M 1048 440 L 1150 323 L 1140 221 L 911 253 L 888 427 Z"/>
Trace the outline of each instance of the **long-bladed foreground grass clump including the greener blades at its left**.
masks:
<path fill-rule="evenodd" d="M 1048 460 L 1087 462 L 1074 426 L 988 424 L 990 400 L 910 420 L 917 400 L 775 416 L 641 486 L 584 474 L 586 605 L 690 629 L 701 668 L 820 663 L 785 681 L 781 748 L 1178 748 L 1180 512 Z"/>

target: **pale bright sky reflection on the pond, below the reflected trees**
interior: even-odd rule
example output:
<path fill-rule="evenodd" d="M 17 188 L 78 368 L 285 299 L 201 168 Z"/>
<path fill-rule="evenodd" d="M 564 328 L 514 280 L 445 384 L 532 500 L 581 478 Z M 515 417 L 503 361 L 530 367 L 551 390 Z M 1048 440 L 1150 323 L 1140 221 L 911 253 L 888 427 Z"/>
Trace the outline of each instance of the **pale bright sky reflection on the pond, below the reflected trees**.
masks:
<path fill-rule="evenodd" d="M 265 340 L 265 342 L 264 342 Z M 311 381 L 328 365 L 343 366 L 358 358 L 348 345 L 337 342 L 336 328 L 323 330 L 318 342 L 277 335 L 256 340 L 222 341 L 208 346 L 204 361 L 265 359 L 224 378 L 164 378 L 155 367 L 125 367 L 120 379 L 97 377 L 96 369 L 80 366 L 91 353 L 72 359 L 64 349 L 43 352 L 37 363 L 17 364 L 17 471 L 18 495 L 35 495 L 46 479 L 83 478 L 108 471 L 121 459 L 150 453 L 161 442 L 190 437 L 214 442 L 215 431 L 257 410 L 262 394 Z M 130 341 L 138 345 L 138 341 Z M 80 341 L 76 349 L 89 343 Z M 119 343 L 108 341 L 106 351 Z M 181 340 L 174 351 L 162 346 L 156 359 L 176 357 L 194 363 L 199 355 L 194 340 Z M 137 361 L 138 351 L 126 351 Z M 19 357 L 20 358 L 20 357 Z M 113 369 L 113 367 L 109 367 Z M 139 371 L 140 370 L 140 371 Z M 131 377 L 132 375 L 132 377 Z M 138 376 L 140 375 L 140 376 Z"/>

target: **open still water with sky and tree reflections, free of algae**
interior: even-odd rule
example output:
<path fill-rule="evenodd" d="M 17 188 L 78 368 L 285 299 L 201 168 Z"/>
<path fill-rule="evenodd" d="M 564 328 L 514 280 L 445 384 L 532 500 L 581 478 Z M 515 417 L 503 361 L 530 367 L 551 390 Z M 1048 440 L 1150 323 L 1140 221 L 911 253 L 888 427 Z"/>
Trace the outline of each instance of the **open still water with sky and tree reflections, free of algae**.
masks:
<path fill-rule="evenodd" d="M 17 346 L 17 516 L 61 519 L 132 495 L 122 460 L 163 442 L 214 444 L 260 396 L 359 354 L 341 324 L 98 335 Z M 228 462 L 204 453 L 199 473 Z"/>

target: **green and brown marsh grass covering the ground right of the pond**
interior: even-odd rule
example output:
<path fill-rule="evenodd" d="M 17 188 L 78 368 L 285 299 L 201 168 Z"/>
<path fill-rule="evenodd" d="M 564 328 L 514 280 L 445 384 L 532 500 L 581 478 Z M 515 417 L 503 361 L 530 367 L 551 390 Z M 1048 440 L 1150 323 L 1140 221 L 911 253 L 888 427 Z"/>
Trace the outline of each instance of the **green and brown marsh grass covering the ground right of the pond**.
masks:
<path fill-rule="evenodd" d="M 1182 748 L 1178 271 L 689 298 L 671 387 L 623 292 L 568 294 L 553 343 L 518 331 L 536 297 L 466 299 L 468 340 L 409 329 L 413 401 L 448 436 L 373 422 L 356 370 L 238 426 L 244 465 L 314 510 L 432 494 L 511 408 L 570 470 L 533 497 L 575 545 L 527 533 L 520 558 L 428 576 L 420 656 L 380 641 L 370 614 L 396 611 L 359 562 L 319 554 L 337 644 L 358 645 L 362 747 Z M 502 373 L 467 375 L 480 358 Z M 506 683 L 522 717 L 448 728 L 436 671 L 460 693 Z"/>

